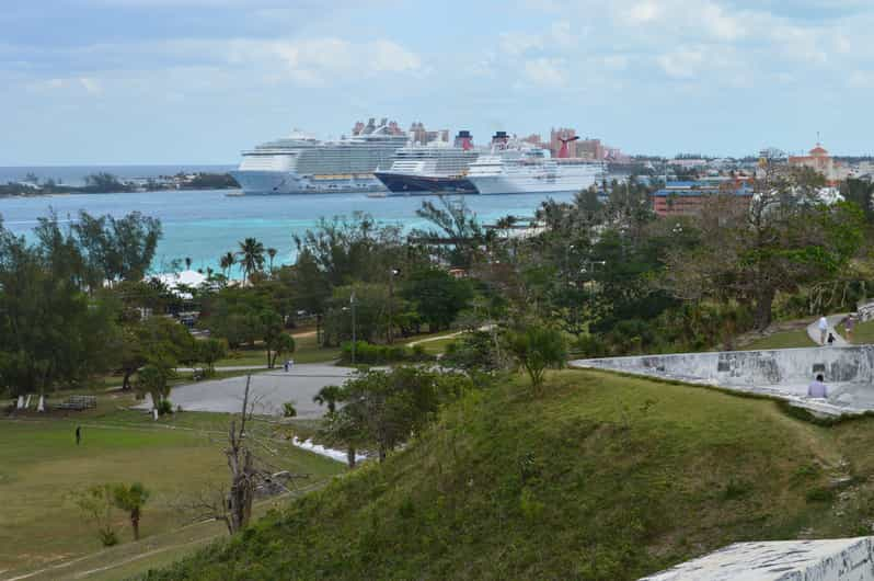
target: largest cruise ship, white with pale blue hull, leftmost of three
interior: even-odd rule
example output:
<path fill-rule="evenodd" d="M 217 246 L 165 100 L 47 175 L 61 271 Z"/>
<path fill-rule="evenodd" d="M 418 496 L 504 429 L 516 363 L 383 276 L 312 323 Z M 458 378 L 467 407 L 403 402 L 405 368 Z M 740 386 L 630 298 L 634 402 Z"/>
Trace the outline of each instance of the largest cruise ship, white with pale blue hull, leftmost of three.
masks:
<path fill-rule="evenodd" d="M 377 168 L 388 168 L 409 141 L 394 122 L 371 118 L 356 124 L 353 135 L 320 141 L 298 130 L 243 152 L 231 172 L 244 194 L 340 194 L 384 192 Z"/>

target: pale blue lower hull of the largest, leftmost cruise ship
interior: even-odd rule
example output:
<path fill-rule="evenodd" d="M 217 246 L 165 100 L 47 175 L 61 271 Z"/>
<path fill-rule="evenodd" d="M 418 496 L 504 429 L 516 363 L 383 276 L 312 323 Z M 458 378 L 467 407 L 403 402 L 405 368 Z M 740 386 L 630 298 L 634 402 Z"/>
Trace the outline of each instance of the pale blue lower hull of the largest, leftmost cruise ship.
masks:
<path fill-rule="evenodd" d="M 287 171 L 230 172 L 245 195 L 367 194 L 384 192 L 376 178 L 319 179 Z"/>

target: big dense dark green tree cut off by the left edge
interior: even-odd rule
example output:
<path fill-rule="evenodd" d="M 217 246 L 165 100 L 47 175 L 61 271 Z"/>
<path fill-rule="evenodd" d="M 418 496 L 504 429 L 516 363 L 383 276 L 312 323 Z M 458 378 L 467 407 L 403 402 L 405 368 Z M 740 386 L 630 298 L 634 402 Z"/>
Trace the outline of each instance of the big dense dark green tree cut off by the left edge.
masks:
<path fill-rule="evenodd" d="M 12 395 L 82 385 L 116 364 L 120 306 L 83 290 L 81 264 L 55 219 L 33 246 L 0 224 L 0 387 Z"/>

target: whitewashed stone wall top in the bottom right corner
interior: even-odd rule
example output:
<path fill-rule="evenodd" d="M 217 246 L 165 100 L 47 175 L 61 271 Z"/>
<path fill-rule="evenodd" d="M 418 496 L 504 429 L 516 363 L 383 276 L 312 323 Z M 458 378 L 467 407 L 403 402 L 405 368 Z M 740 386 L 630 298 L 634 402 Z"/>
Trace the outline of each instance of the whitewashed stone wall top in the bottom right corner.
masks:
<path fill-rule="evenodd" d="M 874 581 L 874 537 L 737 543 L 640 581 Z"/>

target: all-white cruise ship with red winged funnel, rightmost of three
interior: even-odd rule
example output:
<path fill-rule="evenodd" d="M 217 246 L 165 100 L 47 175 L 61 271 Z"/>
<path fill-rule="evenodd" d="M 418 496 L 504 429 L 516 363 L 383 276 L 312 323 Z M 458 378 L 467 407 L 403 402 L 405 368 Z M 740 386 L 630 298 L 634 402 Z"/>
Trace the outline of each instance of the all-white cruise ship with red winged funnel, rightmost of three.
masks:
<path fill-rule="evenodd" d="M 470 164 L 467 179 L 478 193 L 488 195 L 576 193 L 602 178 L 602 162 L 562 158 L 565 146 L 560 157 L 552 159 L 549 150 L 515 147 L 505 132 L 498 132 L 492 138 L 492 151 Z"/>

